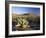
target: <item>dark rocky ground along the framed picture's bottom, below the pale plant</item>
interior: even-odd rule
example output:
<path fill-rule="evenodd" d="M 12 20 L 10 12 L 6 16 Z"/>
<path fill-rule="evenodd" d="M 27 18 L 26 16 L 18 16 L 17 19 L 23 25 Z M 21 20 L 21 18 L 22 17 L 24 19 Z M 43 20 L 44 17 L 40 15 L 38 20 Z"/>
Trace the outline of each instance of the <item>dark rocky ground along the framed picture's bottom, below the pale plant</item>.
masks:
<path fill-rule="evenodd" d="M 25 31 L 25 30 L 40 30 L 40 25 L 38 24 L 31 24 L 31 26 L 28 26 L 27 28 L 22 28 L 22 27 L 13 27 L 12 31 Z"/>

